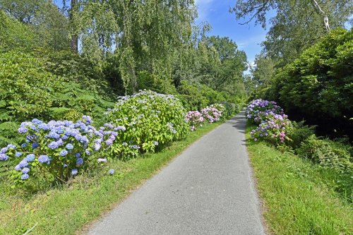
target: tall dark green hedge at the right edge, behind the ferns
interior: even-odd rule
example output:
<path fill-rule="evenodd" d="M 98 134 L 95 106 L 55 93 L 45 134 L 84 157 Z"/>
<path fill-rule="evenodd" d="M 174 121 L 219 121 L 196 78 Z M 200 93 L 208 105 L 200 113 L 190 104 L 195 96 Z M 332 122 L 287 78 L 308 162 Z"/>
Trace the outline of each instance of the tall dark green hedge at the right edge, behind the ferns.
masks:
<path fill-rule="evenodd" d="M 352 68 L 353 29 L 332 30 L 279 69 L 265 97 L 278 101 L 295 119 L 352 135 Z"/>

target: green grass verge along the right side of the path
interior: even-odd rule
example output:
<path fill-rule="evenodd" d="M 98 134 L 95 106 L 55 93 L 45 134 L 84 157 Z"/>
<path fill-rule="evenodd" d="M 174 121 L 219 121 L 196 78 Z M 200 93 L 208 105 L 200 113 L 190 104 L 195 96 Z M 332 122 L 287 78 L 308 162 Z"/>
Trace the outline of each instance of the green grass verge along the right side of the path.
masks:
<path fill-rule="evenodd" d="M 250 138 L 247 146 L 273 234 L 353 234 L 352 204 L 325 183 L 327 175 L 312 162 L 280 152 Z"/>

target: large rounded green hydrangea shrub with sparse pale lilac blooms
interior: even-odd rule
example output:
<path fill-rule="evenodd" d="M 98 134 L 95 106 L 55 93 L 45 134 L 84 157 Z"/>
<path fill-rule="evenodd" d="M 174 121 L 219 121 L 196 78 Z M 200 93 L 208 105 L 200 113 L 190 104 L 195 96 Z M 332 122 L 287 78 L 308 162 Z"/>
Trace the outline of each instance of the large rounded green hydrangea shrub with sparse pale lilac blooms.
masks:
<path fill-rule="evenodd" d="M 186 137 L 189 124 L 185 109 L 173 95 L 150 90 L 121 97 L 107 119 L 115 126 L 125 126 L 119 143 L 112 145 L 114 155 L 128 158 L 139 152 L 154 152 L 157 146 Z"/>

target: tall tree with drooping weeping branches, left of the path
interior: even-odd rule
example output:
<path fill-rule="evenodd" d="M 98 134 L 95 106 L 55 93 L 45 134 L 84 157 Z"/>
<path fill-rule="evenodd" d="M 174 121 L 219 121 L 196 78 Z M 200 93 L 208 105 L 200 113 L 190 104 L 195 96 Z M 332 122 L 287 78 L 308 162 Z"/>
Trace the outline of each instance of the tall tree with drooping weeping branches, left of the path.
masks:
<path fill-rule="evenodd" d="M 87 13 L 92 12 L 93 4 L 104 11 L 95 8 L 94 14 Z M 171 82 L 174 61 L 179 57 L 184 42 L 189 42 L 191 37 L 191 23 L 195 17 L 193 0 L 83 1 L 79 8 L 80 18 L 91 16 L 89 24 L 80 20 L 83 42 L 90 38 L 95 48 L 104 50 L 101 47 L 102 37 L 92 35 L 100 35 L 104 29 L 107 32 L 104 35 L 114 37 L 109 49 L 115 49 L 126 89 L 136 91 L 138 71 L 152 73 L 160 83 Z M 103 20 L 97 20 L 98 15 Z M 110 27 L 113 23 L 115 26 Z M 105 40 L 108 38 L 104 37 Z"/>

